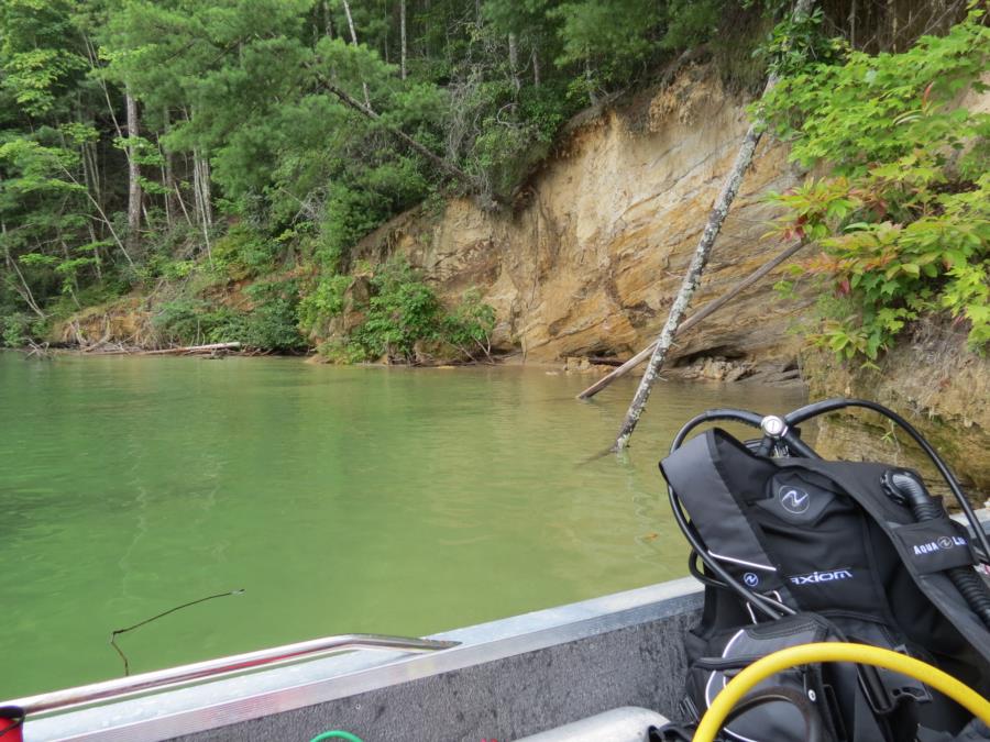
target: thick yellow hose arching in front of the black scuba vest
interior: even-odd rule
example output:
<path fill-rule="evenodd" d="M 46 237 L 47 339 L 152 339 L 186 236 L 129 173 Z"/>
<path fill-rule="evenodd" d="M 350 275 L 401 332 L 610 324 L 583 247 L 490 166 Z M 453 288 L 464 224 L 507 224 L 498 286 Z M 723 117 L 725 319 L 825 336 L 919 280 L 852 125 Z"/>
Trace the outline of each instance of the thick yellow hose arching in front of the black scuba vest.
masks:
<path fill-rule="evenodd" d="M 851 662 L 859 665 L 886 667 L 908 675 L 942 691 L 985 724 L 990 724 L 990 701 L 976 690 L 937 667 L 898 652 L 868 644 L 817 642 L 789 646 L 757 660 L 729 680 L 702 717 L 693 742 L 713 742 L 736 704 L 755 685 L 777 673 L 816 662 Z"/>

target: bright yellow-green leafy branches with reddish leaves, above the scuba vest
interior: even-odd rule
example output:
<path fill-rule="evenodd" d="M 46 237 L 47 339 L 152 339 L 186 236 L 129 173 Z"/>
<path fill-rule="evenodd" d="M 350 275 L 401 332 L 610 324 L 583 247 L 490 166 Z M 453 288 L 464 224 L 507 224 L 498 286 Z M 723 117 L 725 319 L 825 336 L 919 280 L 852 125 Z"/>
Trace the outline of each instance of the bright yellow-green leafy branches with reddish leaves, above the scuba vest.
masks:
<path fill-rule="evenodd" d="M 798 73 L 767 107 L 792 158 L 838 174 L 774 199 L 785 208 L 777 230 L 823 250 L 804 272 L 848 299 L 814 336 L 845 358 L 872 362 L 939 311 L 968 323 L 974 350 L 990 341 L 990 115 L 952 106 L 982 89 L 988 54 L 974 13 L 904 54 L 854 52 Z"/>

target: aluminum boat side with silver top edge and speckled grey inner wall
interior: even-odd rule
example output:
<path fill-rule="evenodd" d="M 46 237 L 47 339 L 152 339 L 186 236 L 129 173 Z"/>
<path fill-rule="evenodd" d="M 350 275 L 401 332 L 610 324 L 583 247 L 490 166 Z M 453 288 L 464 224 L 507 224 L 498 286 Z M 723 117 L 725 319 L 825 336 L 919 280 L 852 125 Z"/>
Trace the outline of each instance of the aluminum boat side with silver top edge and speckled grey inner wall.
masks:
<path fill-rule="evenodd" d="M 618 706 L 670 715 L 701 602 L 675 579 L 436 634 L 457 645 L 427 654 L 355 652 L 29 717 L 24 739 L 507 740 Z"/>

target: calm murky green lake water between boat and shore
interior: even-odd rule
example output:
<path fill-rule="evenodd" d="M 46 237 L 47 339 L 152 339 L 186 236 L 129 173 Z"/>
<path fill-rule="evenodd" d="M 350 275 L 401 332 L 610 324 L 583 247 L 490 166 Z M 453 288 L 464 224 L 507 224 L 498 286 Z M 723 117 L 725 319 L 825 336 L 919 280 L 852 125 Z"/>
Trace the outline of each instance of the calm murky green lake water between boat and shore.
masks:
<path fill-rule="evenodd" d="M 799 391 L 544 368 L 0 353 L 0 699 L 346 632 L 427 634 L 685 573 L 657 461 L 707 407 Z"/>

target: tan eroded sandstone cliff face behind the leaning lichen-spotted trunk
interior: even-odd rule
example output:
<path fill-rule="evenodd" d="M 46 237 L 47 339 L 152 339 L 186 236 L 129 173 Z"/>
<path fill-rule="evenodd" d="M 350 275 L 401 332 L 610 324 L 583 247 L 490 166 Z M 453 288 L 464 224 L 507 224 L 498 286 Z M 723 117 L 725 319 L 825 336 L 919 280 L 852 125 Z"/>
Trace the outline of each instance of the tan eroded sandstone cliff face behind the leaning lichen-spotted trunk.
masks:
<path fill-rule="evenodd" d="M 657 96 L 647 118 L 644 128 L 606 112 L 575 131 L 514 213 L 484 212 L 466 199 L 439 217 L 410 212 L 363 241 L 359 256 L 404 253 L 449 299 L 477 287 L 497 313 L 496 345 L 529 359 L 630 355 L 662 326 L 748 125 L 741 101 L 704 69 Z M 784 148 L 765 143 L 692 309 L 782 250 L 761 239 L 773 217 L 761 199 L 796 179 Z M 773 280 L 688 333 L 672 359 L 793 363 L 800 342 L 788 329 L 801 306 L 779 299 Z"/>

